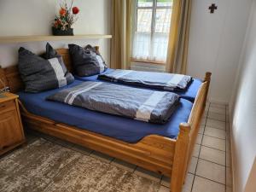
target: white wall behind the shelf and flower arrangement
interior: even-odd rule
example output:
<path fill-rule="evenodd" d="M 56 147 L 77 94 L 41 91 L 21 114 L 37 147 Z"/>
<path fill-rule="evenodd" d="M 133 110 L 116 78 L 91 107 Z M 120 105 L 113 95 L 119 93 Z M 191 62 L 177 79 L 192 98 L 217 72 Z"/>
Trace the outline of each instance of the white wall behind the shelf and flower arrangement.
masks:
<path fill-rule="evenodd" d="M 60 2 L 61 0 L 0 0 L 0 36 L 51 34 L 51 22 Z M 110 34 L 111 0 L 74 0 L 73 6 L 80 9 L 79 20 L 73 26 L 75 34 Z M 108 63 L 110 60 L 110 40 L 49 43 L 56 49 L 67 47 L 68 43 L 99 45 L 105 60 Z M 0 65 L 15 65 L 20 46 L 38 53 L 44 51 L 45 44 L 46 42 L 0 44 Z"/>

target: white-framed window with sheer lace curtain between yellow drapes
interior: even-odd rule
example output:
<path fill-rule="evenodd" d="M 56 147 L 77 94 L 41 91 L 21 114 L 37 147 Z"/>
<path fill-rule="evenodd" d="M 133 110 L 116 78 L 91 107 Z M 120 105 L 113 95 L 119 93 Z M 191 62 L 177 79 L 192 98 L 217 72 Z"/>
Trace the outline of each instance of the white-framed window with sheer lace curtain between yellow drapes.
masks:
<path fill-rule="evenodd" d="M 133 60 L 166 62 L 173 0 L 136 0 Z"/>

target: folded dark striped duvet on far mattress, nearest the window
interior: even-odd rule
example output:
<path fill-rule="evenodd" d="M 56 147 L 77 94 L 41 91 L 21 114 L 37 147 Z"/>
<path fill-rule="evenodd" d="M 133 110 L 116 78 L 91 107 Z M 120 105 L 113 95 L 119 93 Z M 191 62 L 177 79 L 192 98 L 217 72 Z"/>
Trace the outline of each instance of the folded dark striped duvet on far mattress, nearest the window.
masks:
<path fill-rule="evenodd" d="M 134 84 L 160 90 L 186 90 L 192 78 L 183 74 L 141 72 L 116 69 L 110 73 L 101 74 L 98 79 Z"/>

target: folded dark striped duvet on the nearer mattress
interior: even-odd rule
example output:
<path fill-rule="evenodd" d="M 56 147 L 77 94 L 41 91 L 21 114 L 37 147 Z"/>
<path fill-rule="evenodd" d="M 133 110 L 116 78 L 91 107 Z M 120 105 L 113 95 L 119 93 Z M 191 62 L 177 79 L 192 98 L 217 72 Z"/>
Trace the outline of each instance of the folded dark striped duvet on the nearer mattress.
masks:
<path fill-rule="evenodd" d="M 166 123 L 179 104 L 179 96 L 174 93 L 92 81 L 61 90 L 47 99 L 158 124 Z"/>

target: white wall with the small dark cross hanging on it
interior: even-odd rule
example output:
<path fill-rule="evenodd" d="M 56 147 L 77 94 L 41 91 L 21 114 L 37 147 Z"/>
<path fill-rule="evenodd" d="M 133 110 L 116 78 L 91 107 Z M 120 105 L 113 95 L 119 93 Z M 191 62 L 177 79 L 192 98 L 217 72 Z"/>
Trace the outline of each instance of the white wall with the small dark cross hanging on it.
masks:
<path fill-rule="evenodd" d="M 188 73 L 212 72 L 210 100 L 229 102 L 251 0 L 194 0 L 189 36 Z M 218 9 L 209 14 L 208 7 Z"/>

